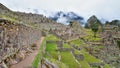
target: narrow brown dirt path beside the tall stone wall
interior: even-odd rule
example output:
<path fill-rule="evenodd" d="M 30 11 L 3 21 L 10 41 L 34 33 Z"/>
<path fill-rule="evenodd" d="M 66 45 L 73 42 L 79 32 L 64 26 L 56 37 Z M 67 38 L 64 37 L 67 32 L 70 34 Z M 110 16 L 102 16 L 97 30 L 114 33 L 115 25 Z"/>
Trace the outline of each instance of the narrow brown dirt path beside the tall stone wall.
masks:
<path fill-rule="evenodd" d="M 33 51 L 29 56 L 27 56 L 24 60 L 19 62 L 18 64 L 12 65 L 10 68 L 29 68 L 34 61 L 35 56 L 38 54 L 40 45 L 43 41 L 44 37 L 41 37 L 40 40 L 37 42 L 37 48 Z"/>

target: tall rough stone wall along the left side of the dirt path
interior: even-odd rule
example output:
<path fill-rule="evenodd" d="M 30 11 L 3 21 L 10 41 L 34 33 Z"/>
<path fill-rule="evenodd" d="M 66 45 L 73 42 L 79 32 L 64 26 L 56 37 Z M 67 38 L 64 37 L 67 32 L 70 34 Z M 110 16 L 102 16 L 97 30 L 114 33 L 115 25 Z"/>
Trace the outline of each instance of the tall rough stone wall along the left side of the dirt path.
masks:
<path fill-rule="evenodd" d="M 25 53 L 41 37 L 41 31 L 23 24 L 0 19 L 0 67 L 5 62 L 8 65 L 17 63 L 25 58 Z M 24 52 L 23 52 L 24 51 Z"/>

